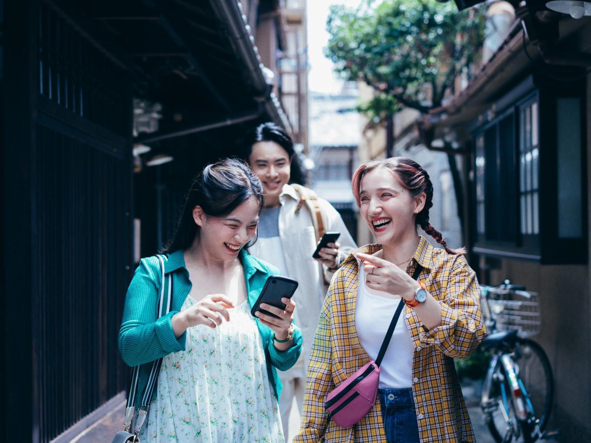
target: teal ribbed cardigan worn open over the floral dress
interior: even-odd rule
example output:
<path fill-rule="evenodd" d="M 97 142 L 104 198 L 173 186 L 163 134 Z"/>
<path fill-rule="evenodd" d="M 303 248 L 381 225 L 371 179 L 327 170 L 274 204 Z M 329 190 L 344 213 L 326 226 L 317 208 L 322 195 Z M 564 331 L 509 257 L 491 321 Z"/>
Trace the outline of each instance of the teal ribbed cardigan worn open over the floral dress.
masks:
<path fill-rule="evenodd" d="M 244 250 L 240 252 L 239 259 L 244 269 L 248 303 L 252 307 L 268 276 L 278 275 L 280 272 L 274 266 L 249 255 Z M 148 363 L 169 353 L 185 350 L 186 331 L 176 338 L 170 321 L 173 315 L 180 311 L 191 291 L 191 281 L 189 280 L 189 271 L 184 263 L 183 251 L 178 250 L 171 253 L 165 262 L 164 272 L 172 273 L 173 305 L 167 315 L 157 319 L 156 303 L 162 279 L 160 272 L 160 263 L 156 256 L 141 259 L 127 290 L 123 320 L 119 330 L 119 352 L 123 361 L 129 366 L 142 365 L 139 371 L 136 405 L 138 408 L 141 394 L 150 374 L 151 365 Z M 271 328 L 260 321 L 257 321 L 256 325 L 265 348 L 269 380 L 271 380 L 273 391 L 279 399 L 282 386 L 276 368 L 285 371 L 296 364 L 301 353 L 301 331 L 296 327 L 293 334 L 294 345 L 288 350 L 280 351 L 273 344 Z M 156 390 L 154 389 L 154 397 Z"/>

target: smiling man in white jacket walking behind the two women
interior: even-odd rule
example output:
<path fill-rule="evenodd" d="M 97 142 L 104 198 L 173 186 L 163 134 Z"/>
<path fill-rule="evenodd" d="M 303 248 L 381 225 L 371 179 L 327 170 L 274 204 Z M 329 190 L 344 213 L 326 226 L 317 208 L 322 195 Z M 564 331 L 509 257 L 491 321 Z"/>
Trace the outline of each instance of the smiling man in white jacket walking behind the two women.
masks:
<path fill-rule="evenodd" d="M 291 405 L 295 397 L 301 413 L 307 363 L 327 291 L 325 282 L 330 281 L 340 262 L 357 246 L 336 209 L 318 198 L 326 232 L 340 232 L 340 237 L 338 242 L 329 243 L 329 247 L 320 251 L 321 259 L 312 258 L 317 246 L 312 215 L 306 207 L 297 211 L 300 195 L 287 184 L 294 149 L 290 136 L 280 126 L 274 123 L 257 126 L 246 135 L 244 149 L 245 159 L 265 190 L 258 240 L 250 252 L 300 283 L 293 299 L 297 303 L 296 324 L 304 337 L 302 353 L 294 367 L 280 372 L 281 421 L 287 439 L 288 431 L 297 431 L 288 429 Z"/>

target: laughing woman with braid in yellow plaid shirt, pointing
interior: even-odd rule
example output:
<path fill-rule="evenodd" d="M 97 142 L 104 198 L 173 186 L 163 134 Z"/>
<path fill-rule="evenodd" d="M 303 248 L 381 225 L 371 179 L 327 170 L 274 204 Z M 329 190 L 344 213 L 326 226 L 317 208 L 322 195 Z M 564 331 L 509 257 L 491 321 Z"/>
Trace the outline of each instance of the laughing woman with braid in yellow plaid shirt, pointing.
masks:
<path fill-rule="evenodd" d="M 469 356 L 485 334 L 480 289 L 465 249 L 450 248 L 429 223 L 429 175 L 408 158 L 369 161 L 353 175 L 353 195 L 377 244 L 354 250 L 333 276 L 294 441 L 475 442 L 453 359 Z M 326 397 L 379 360 L 399 307 L 381 360 L 379 401 L 356 425 L 341 428 L 327 419 Z"/>

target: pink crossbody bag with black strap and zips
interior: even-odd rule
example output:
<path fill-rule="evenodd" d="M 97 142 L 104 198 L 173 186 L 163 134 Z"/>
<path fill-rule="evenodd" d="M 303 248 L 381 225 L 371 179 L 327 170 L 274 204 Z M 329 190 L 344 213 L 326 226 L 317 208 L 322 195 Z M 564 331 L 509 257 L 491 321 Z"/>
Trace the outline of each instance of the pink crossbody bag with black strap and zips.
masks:
<path fill-rule="evenodd" d="M 423 271 L 423 268 L 420 265 L 417 266 L 413 273 L 415 280 L 421 271 Z M 381 348 L 379 348 L 378 358 L 370 361 L 348 377 L 326 397 L 324 409 L 329 421 L 332 419 L 342 428 L 349 428 L 361 421 L 363 417 L 368 415 L 369 410 L 374 407 L 378 395 L 379 365 L 382 363 L 404 305 L 404 301 L 401 300 L 396 312 L 394 312 L 388 332 L 384 337 L 384 341 L 382 341 Z"/>

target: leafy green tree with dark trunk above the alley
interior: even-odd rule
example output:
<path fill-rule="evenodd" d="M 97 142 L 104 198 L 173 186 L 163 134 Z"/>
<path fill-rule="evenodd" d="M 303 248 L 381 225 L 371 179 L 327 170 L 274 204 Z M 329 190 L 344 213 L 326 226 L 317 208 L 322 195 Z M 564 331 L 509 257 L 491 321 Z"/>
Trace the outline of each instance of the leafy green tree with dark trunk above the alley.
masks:
<path fill-rule="evenodd" d="M 402 106 L 417 109 L 421 142 L 448 154 L 463 224 L 462 180 L 456 154 L 462 149 L 432 145 L 429 112 L 443 104 L 457 76 L 474 63 L 482 47 L 484 6 L 457 11 L 453 2 L 436 0 L 363 0 L 356 8 L 332 6 L 327 19 L 326 55 L 348 80 L 374 87 L 376 95 L 360 109 L 374 123 L 386 123 L 387 153 L 392 155 L 392 116 Z"/>

